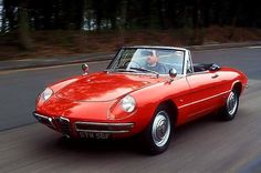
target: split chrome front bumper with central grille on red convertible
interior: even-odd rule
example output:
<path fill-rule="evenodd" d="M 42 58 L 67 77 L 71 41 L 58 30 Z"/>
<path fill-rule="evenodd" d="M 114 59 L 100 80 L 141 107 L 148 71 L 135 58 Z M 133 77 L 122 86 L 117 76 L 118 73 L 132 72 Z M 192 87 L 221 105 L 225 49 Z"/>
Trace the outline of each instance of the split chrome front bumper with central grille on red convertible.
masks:
<path fill-rule="evenodd" d="M 70 122 L 69 119 L 59 116 L 50 118 L 36 112 L 33 112 L 33 116 L 40 122 L 48 125 L 51 129 L 58 130 L 65 136 L 72 135 L 72 126 L 77 133 L 108 133 L 108 134 L 123 134 L 128 133 L 134 128 L 134 123 L 98 123 L 98 122 L 83 122 L 77 121 L 75 123 Z"/>

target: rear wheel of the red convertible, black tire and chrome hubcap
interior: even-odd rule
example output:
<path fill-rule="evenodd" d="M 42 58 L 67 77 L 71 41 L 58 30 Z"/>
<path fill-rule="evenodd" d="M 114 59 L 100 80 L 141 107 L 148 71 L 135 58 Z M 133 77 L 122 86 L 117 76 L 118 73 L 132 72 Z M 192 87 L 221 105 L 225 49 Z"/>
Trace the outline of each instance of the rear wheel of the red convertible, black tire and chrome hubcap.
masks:
<path fill-rule="evenodd" d="M 234 119 L 239 108 L 239 94 L 236 90 L 232 90 L 226 101 L 226 104 L 221 109 L 221 119 L 223 121 L 231 121 Z"/>

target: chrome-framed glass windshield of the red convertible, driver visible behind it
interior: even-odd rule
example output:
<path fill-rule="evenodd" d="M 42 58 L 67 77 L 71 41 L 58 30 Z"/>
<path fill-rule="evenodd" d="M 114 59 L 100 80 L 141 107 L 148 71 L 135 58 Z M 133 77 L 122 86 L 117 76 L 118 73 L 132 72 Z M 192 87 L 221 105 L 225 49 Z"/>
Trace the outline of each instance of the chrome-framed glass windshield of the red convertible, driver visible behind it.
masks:
<path fill-rule="evenodd" d="M 176 69 L 182 74 L 185 52 L 175 49 L 124 48 L 118 51 L 107 70 L 168 74 Z"/>

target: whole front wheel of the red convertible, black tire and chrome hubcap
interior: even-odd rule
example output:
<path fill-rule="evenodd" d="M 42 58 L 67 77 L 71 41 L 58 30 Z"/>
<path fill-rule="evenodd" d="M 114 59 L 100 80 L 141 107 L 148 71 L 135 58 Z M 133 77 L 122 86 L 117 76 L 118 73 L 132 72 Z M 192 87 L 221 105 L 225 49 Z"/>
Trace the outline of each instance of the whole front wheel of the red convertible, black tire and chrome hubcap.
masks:
<path fill-rule="evenodd" d="M 171 120 L 167 106 L 159 105 L 149 125 L 140 135 L 144 152 L 156 155 L 167 150 L 174 131 Z"/>

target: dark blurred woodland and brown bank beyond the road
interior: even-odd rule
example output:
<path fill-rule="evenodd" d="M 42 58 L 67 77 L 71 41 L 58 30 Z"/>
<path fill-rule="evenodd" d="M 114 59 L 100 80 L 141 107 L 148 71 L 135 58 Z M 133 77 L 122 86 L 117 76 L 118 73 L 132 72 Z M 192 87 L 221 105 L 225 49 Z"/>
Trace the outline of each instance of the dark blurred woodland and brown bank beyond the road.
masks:
<path fill-rule="evenodd" d="M 0 60 L 261 40 L 258 0 L 0 0 Z"/>

